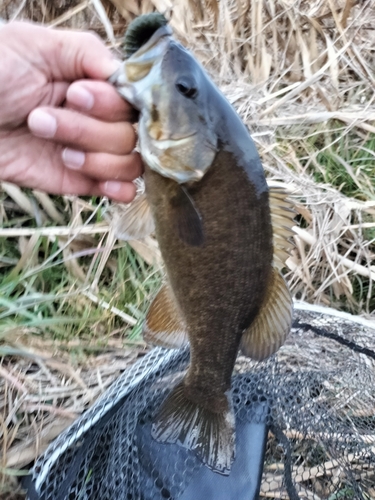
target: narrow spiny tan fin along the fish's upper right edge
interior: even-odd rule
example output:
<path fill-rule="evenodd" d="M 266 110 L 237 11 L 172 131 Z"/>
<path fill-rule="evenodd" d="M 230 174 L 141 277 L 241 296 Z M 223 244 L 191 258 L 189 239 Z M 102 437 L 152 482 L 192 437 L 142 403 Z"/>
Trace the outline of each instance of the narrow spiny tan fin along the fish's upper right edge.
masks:
<path fill-rule="evenodd" d="M 276 269 L 285 267 L 290 249 L 293 248 L 291 236 L 296 212 L 293 203 L 288 199 L 287 191 L 272 182 L 268 182 L 271 220 L 273 229 L 273 265 Z"/>

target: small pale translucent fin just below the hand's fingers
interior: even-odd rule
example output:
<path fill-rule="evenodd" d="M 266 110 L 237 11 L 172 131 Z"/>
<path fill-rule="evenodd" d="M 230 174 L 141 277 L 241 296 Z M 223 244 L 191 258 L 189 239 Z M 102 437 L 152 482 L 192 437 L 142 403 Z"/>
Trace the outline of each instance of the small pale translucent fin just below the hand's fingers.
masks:
<path fill-rule="evenodd" d="M 135 181 L 137 196 L 125 205 L 115 203 L 109 206 L 108 215 L 116 237 L 120 240 L 140 240 L 155 230 L 151 208 L 147 201 L 143 179 Z"/>

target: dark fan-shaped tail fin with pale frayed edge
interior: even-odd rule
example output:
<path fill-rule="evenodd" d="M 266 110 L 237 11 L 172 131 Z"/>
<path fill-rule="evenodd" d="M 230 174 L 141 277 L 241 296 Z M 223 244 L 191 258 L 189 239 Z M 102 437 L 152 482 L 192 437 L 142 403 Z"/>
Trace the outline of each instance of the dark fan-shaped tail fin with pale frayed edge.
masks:
<path fill-rule="evenodd" d="M 180 383 L 164 401 L 152 426 L 152 437 L 194 451 L 214 472 L 228 475 L 235 456 L 235 418 L 228 408 L 215 413 L 190 399 Z"/>

